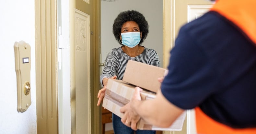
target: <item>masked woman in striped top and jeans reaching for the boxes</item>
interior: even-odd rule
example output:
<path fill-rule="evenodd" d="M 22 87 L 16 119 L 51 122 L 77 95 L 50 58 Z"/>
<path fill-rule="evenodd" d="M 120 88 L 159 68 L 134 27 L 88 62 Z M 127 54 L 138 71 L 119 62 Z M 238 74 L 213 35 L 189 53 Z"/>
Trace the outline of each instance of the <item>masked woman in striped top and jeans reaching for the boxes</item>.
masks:
<path fill-rule="evenodd" d="M 100 75 L 100 81 L 104 87 L 99 90 L 97 106 L 105 96 L 108 79 L 122 80 L 128 60 L 160 66 L 157 52 L 140 45 L 148 34 L 148 24 L 141 13 L 134 10 L 121 12 L 114 20 L 113 34 L 122 46 L 113 48 L 106 57 L 105 66 Z M 115 134 L 134 134 L 134 130 L 125 126 L 117 115 L 112 114 L 112 121 Z M 155 133 L 151 130 L 136 130 L 136 134 Z"/>

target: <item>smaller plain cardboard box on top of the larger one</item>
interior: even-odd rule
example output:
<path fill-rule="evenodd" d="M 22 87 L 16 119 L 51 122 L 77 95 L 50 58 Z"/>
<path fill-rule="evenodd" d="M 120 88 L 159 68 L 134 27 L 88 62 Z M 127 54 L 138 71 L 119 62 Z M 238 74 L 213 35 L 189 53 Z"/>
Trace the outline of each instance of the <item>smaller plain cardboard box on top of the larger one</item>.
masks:
<path fill-rule="evenodd" d="M 160 89 L 161 83 L 159 77 L 164 77 L 167 70 L 161 67 L 155 67 L 145 63 L 128 60 L 123 81 L 136 85 L 153 92 Z"/>

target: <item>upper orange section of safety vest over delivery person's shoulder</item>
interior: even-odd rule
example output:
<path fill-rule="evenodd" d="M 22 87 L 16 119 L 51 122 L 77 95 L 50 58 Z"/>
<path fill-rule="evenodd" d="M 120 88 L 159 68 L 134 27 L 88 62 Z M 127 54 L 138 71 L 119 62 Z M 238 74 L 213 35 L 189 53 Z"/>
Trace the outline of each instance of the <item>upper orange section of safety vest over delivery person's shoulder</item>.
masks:
<path fill-rule="evenodd" d="M 255 8 L 256 0 L 217 0 L 211 11 L 233 22 L 256 46 Z"/>

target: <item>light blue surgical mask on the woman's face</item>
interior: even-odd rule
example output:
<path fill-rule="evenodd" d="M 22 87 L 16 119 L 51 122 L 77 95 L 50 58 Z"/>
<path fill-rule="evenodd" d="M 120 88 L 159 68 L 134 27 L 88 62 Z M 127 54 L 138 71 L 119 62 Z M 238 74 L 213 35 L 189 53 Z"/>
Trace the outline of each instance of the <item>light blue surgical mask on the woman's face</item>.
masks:
<path fill-rule="evenodd" d="M 122 44 L 133 48 L 140 43 L 140 32 L 121 33 Z"/>

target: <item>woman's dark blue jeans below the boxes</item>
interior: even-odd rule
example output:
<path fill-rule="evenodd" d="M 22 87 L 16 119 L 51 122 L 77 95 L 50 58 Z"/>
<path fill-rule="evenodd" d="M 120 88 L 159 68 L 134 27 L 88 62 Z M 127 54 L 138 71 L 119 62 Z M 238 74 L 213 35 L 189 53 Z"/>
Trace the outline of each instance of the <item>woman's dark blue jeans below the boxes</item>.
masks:
<path fill-rule="evenodd" d="M 112 113 L 112 123 L 114 134 L 134 134 L 134 130 L 125 126 L 121 118 Z M 136 134 L 156 134 L 156 131 L 153 130 L 136 130 Z"/>

